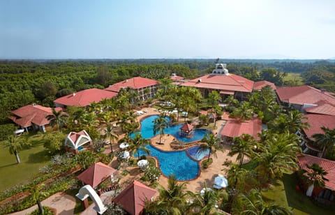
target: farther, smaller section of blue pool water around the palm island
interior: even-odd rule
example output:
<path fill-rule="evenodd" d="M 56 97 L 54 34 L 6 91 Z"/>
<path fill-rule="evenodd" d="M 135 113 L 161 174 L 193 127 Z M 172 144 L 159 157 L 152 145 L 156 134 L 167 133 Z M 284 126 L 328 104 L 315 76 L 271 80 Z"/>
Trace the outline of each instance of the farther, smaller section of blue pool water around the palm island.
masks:
<path fill-rule="evenodd" d="M 153 121 L 158 118 L 158 115 L 152 115 L 150 117 L 147 117 L 141 121 L 141 130 L 140 133 L 142 134 L 142 138 L 149 139 L 154 137 L 154 123 Z M 168 121 L 170 122 L 170 117 L 166 117 Z M 191 137 L 181 137 L 179 135 L 180 128 L 183 126 L 183 124 L 177 124 L 177 125 L 170 125 L 169 128 L 164 129 L 165 134 L 173 135 L 179 142 L 194 142 L 197 140 L 202 140 L 207 133 L 210 133 L 211 131 L 207 129 L 195 129 L 194 135 L 191 135 Z M 158 134 L 158 133 L 157 133 Z M 156 134 L 156 135 L 157 135 Z M 131 138 L 135 137 L 135 133 L 131 134 Z"/>

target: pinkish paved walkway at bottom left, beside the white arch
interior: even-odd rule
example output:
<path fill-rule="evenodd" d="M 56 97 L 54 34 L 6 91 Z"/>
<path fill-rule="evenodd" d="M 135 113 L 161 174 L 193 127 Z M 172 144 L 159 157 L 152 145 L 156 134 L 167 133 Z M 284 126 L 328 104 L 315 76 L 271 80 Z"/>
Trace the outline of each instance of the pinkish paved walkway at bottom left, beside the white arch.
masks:
<path fill-rule="evenodd" d="M 67 195 L 65 193 L 55 193 L 49 198 L 42 201 L 43 206 L 49 206 L 57 209 L 59 215 L 73 215 L 75 209 L 75 197 Z M 15 212 L 13 215 L 24 215 L 29 214 L 37 209 L 37 205 L 25 209 L 21 212 Z"/>

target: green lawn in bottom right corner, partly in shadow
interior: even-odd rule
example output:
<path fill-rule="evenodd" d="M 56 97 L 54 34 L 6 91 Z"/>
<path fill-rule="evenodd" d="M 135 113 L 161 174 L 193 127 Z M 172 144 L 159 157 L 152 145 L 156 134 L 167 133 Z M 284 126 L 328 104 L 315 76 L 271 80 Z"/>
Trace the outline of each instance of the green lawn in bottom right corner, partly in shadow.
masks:
<path fill-rule="evenodd" d="M 335 207 L 331 211 L 328 210 L 329 207 L 315 205 L 304 193 L 295 191 L 295 186 L 296 175 L 284 174 L 283 181 L 278 180 L 269 191 L 262 192 L 262 195 L 267 202 L 292 208 L 293 214 L 334 214 Z"/>

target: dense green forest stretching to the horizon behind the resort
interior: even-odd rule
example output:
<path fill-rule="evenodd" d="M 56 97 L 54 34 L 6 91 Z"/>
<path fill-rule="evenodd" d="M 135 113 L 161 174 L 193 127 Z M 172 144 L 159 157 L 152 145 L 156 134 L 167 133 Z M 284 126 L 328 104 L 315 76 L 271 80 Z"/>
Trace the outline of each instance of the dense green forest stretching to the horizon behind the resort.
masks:
<path fill-rule="evenodd" d="M 278 86 L 288 73 L 301 73 L 304 83 L 335 92 L 335 61 L 237 59 L 102 59 L 0 61 L 0 123 L 10 110 L 29 103 L 52 106 L 55 98 L 92 87 L 103 89 L 130 77 L 160 80 L 177 73 L 186 78 L 210 73 L 216 62 L 230 73 L 251 80 L 269 80 Z"/>

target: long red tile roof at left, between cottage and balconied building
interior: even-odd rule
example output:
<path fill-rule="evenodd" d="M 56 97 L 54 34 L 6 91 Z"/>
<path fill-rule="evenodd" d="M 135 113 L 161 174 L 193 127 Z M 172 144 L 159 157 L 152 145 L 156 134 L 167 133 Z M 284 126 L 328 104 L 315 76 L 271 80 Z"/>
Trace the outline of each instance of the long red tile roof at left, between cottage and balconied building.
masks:
<path fill-rule="evenodd" d="M 76 92 L 75 94 L 57 98 L 54 103 L 66 106 L 85 107 L 93 102 L 98 103 L 104 98 L 113 98 L 115 96 L 117 96 L 117 93 L 103 89 L 92 88 L 84 89 L 82 91 Z"/>

